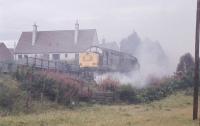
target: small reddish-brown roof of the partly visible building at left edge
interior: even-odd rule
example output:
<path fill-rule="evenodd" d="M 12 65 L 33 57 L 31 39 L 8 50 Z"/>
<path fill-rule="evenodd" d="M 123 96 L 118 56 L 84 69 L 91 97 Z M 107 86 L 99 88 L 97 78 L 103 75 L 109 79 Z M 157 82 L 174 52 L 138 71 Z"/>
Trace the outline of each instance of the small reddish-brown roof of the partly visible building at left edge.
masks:
<path fill-rule="evenodd" d="M 10 61 L 13 59 L 13 55 L 9 51 L 9 49 L 6 47 L 4 43 L 0 42 L 0 62 L 2 61 Z"/>

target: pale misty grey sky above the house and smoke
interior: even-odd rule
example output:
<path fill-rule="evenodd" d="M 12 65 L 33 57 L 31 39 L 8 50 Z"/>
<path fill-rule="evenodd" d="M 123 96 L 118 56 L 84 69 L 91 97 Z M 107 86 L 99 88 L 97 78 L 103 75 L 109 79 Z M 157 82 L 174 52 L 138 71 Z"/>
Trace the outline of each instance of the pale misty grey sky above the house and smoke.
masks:
<path fill-rule="evenodd" d="M 196 0 L 0 0 L 0 41 L 17 41 L 22 31 L 96 28 L 99 40 L 119 42 L 136 31 L 158 40 L 177 58 L 194 52 Z"/>

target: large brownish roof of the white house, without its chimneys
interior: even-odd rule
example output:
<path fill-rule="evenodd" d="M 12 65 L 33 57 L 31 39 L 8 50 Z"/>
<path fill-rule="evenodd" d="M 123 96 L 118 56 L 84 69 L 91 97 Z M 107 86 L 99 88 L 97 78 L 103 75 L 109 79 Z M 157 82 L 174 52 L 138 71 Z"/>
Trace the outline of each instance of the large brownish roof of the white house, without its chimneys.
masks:
<path fill-rule="evenodd" d="M 32 46 L 32 32 L 22 32 L 15 53 L 80 52 L 98 43 L 96 29 L 79 30 L 77 44 L 74 35 L 74 30 L 38 31 Z"/>

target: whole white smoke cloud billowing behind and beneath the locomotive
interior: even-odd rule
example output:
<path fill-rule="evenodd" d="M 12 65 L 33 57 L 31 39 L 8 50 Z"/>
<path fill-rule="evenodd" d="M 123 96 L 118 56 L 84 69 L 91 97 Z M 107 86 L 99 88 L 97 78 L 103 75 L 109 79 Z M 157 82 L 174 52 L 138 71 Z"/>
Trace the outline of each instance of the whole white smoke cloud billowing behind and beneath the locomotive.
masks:
<path fill-rule="evenodd" d="M 160 80 L 172 73 L 169 58 L 159 42 L 154 42 L 149 39 L 141 40 L 137 33 L 133 33 L 127 39 L 123 40 L 121 47 L 123 47 L 120 48 L 121 51 L 131 53 L 137 57 L 140 70 L 129 73 L 106 73 L 97 75 L 97 83 L 109 77 L 114 80 L 119 80 L 121 84 L 131 84 L 134 87 L 142 88 L 154 83 L 152 80 Z"/>

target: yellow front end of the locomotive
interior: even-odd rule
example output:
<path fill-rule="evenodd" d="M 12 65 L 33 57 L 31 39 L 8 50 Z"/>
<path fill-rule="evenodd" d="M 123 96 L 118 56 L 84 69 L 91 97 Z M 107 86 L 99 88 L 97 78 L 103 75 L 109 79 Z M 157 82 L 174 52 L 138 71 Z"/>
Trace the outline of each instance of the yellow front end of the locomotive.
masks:
<path fill-rule="evenodd" d="M 97 68 L 99 66 L 99 54 L 93 52 L 80 53 L 79 65 L 81 68 Z"/>

